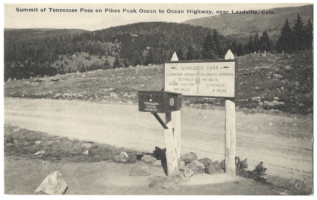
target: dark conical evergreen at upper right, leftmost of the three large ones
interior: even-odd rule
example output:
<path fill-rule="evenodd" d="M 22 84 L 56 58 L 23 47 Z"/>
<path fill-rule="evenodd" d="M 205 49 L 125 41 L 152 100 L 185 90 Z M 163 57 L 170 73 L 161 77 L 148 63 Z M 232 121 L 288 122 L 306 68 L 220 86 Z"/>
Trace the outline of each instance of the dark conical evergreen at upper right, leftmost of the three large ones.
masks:
<path fill-rule="evenodd" d="M 289 27 L 288 20 L 285 21 L 284 26 L 281 29 L 281 35 L 277 40 L 277 48 L 279 52 L 291 53 L 294 50 L 293 46 L 293 33 Z"/>

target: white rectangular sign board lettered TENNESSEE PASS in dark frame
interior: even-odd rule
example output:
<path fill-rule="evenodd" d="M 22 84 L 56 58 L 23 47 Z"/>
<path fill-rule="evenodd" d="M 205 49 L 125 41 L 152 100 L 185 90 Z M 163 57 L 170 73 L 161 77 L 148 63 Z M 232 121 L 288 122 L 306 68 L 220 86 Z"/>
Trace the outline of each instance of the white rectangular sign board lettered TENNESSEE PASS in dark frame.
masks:
<path fill-rule="evenodd" d="M 236 98 L 235 60 L 165 61 L 164 89 L 183 96 Z"/>

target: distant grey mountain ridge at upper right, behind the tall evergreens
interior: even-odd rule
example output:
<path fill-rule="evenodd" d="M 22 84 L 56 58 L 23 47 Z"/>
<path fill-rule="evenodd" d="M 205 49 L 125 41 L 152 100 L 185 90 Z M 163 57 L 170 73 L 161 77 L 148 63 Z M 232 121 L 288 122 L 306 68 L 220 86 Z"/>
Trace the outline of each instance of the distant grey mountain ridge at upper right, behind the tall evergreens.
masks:
<path fill-rule="evenodd" d="M 262 10 L 256 10 L 260 12 L 258 15 L 231 14 L 232 11 L 230 10 L 228 14 L 202 17 L 182 23 L 194 26 L 199 25 L 210 29 L 215 28 L 220 34 L 229 39 L 237 39 L 239 42 L 243 42 L 250 34 L 261 34 L 264 30 L 268 32 L 268 35 L 273 40 L 277 40 L 285 20 L 288 19 L 290 24 L 293 25 L 293 20 L 296 19 L 297 14 L 300 14 L 304 24 L 307 23 L 308 19 L 313 23 L 313 4 L 268 10 L 273 11 L 275 14 L 261 14 Z"/>

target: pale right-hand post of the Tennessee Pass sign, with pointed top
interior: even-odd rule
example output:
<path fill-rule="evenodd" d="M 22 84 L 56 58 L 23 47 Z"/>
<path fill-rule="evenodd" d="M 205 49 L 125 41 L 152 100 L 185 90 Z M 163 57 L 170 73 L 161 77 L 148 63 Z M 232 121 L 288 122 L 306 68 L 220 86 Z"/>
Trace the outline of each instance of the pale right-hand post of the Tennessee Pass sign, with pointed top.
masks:
<path fill-rule="evenodd" d="M 225 59 L 234 59 L 234 55 L 228 50 Z M 235 88 L 236 90 L 236 88 Z M 225 101 L 225 173 L 236 176 L 236 106 L 235 101 L 227 99 Z"/>

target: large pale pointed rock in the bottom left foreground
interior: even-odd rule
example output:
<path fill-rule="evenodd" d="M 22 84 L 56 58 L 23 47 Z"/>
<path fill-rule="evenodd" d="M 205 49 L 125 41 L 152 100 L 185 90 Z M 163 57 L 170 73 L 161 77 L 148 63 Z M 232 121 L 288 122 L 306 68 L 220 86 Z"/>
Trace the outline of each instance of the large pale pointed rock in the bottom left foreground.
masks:
<path fill-rule="evenodd" d="M 61 173 L 59 171 L 54 171 L 43 180 L 35 192 L 39 193 L 42 191 L 49 195 L 63 195 L 67 189 L 67 184 L 61 176 Z"/>

